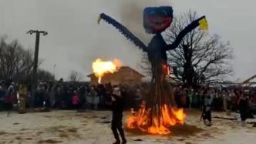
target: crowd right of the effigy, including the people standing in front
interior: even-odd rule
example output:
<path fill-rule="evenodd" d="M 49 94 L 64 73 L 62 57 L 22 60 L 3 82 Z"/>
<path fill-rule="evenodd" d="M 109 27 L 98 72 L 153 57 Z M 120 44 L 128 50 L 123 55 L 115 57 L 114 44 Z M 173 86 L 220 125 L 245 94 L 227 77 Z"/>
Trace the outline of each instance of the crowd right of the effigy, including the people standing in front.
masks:
<path fill-rule="evenodd" d="M 199 89 L 174 89 L 174 96 L 178 107 L 202 109 L 200 119 L 204 119 L 206 126 L 211 126 L 211 111 L 226 111 L 228 115 L 236 112 L 240 116 L 241 125 L 245 125 L 248 118 L 254 119 L 256 114 L 256 93 L 253 89 L 216 89 L 200 87 Z"/>

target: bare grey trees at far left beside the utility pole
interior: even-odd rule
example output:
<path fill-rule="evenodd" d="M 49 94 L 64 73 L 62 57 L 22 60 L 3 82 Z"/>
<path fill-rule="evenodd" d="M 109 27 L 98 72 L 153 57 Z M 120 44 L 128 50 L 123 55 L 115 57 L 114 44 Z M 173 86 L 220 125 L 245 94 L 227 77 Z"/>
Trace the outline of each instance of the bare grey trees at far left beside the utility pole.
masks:
<path fill-rule="evenodd" d="M 6 39 L 6 36 L 0 38 L 0 79 L 31 82 L 32 50 L 24 49 L 17 40 L 8 43 Z M 45 71 L 42 73 L 45 74 Z"/>

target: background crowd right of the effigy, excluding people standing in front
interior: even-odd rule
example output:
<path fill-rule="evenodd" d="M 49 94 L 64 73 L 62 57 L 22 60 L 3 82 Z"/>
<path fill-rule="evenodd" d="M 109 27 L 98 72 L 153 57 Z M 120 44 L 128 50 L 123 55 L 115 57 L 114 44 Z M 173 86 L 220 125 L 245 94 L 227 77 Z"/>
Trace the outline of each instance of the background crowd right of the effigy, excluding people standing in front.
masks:
<path fill-rule="evenodd" d="M 179 107 L 201 109 L 206 105 L 207 98 L 211 98 L 211 106 L 215 111 L 237 111 L 241 99 L 246 99 L 248 108 L 256 103 L 256 93 L 244 89 L 216 89 L 200 87 L 199 89 L 174 88 L 174 96 Z"/>

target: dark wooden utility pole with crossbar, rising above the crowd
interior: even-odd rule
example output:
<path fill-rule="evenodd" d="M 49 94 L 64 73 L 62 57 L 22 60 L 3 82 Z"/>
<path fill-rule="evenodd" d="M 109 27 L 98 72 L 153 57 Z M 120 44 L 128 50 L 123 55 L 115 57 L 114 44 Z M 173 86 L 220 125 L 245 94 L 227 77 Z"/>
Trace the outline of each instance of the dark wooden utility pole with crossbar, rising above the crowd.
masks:
<path fill-rule="evenodd" d="M 35 54 L 34 54 L 34 65 L 33 65 L 33 72 L 32 72 L 32 95 L 35 94 L 36 82 L 37 82 L 37 67 L 39 62 L 39 41 L 40 41 L 40 34 L 48 35 L 48 32 L 39 31 L 39 30 L 29 30 L 27 34 L 34 34 L 35 33 Z"/>

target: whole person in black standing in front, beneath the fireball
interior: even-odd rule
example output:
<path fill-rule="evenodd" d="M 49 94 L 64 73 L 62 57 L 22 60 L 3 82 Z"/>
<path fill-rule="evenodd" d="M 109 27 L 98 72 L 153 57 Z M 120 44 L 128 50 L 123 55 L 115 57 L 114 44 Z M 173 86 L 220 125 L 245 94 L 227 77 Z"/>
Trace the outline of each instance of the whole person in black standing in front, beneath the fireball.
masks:
<path fill-rule="evenodd" d="M 122 128 L 122 119 L 123 119 L 123 97 L 121 95 L 120 88 L 116 85 L 113 89 L 112 94 L 112 122 L 111 122 L 111 129 L 113 131 L 113 135 L 116 139 L 116 142 L 113 144 L 120 144 L 120 137 L 117 133 L 117 130 L 120 132 L 120 136 L 122 138 L 122 143 L 126 143 L 126 138 L 124 136 L 123 128 Z"/>

